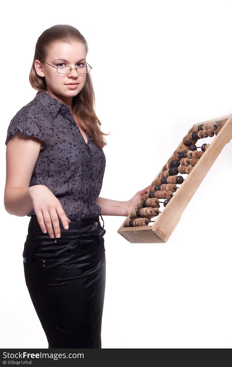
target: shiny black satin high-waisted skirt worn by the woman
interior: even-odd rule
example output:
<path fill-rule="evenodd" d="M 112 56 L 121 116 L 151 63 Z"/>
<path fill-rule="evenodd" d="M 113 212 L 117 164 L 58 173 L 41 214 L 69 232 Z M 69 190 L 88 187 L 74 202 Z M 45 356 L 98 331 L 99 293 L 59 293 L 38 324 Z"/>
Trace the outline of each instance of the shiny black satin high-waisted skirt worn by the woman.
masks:
<path fill-rule="evenodd" d="M 64 229 L 59 218 L 61 236 L 52 239 L 32 215 L 23 249 L 26 286 L 48 348 L 102 348 L 104 222 L 69 219 Z"/>

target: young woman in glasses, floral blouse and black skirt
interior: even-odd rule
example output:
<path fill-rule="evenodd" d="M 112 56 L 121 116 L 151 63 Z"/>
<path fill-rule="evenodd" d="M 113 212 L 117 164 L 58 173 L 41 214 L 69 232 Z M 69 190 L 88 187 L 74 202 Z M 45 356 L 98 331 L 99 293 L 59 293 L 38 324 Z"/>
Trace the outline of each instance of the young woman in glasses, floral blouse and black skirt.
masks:
<path fill-rule="evenodd" d="M 106 230 L 99 215 L 127 216 L 151 186 L 128 201 L 99 197 L 108 134 L 94 112 L 87 52 L 72 26 L 41 34 L 30 70 L 36 96 L 13 117 L 5 141 L 5 209 L 30 217 L 25 281 L 48 348 L 101 348 Z"/>

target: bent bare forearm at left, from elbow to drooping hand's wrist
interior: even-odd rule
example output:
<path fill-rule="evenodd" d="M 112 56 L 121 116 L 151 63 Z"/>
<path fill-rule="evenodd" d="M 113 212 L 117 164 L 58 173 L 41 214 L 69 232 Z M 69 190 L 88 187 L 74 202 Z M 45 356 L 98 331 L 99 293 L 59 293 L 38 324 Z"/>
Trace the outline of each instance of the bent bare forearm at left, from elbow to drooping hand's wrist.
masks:
<path fill-rule="evenodd" d="M 33 186 L 32 186 L 33 187 Z M 25 189 L 10 189 L 4 194 L 5 210 L 12 215 L 24 217 L 32 209 L 31 187 Z"/>

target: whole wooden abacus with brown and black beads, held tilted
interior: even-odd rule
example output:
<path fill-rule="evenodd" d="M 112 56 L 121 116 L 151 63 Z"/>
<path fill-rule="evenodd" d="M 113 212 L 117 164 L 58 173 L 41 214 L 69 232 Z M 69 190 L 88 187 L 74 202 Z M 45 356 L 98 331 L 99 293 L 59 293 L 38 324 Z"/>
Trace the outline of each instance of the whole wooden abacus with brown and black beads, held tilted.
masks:
<path fill-rule="evenodd" d="M 214 135 L 210 144 L 196 146 L 199 139 Z M 151 188 L 118 229 L 119 235 L 130 243 L 165 243 L 210 167 L 231 138 L 232 115 L 193 125 L 152 181 Z M 183 178 L 178 173 L 187 177 Z M 160 203 L 163 204 L 162 211 L 159 210 Z M 156 216 L 158 218 L 151 221 Z M 148 225 L 150 222 L 154 223 Z"/>

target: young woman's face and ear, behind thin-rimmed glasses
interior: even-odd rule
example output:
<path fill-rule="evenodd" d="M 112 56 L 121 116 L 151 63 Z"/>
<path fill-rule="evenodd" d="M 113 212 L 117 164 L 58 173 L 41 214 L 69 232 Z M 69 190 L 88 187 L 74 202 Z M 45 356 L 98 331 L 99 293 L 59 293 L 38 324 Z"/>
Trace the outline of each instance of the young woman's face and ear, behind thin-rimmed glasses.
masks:
<path fill-rule="evenodd" d="M 66 60 L 66 61 L 65 61 Z M 86 61 L 86 51 L 83 43 L 80 42 L 61 42 L 55 41 L 47 48 L 45 60 L 53 66 L 83 66 Z M 84 87 L 86 74 L 79 74 L 75 69 L 70 74 L 60 74 L 57 69 L 45 62 L 34 63 L 36 72 L 39 76 L 45 77 L 48 92 L 63 97 L 64 103 L 72 100 Z M 68 83 L 78 83 L 69 86 Z M 70 99 L 71 98 L 71 99 Z M 67 103 L 66 103 L 67 104 Z"/>

